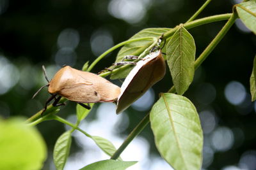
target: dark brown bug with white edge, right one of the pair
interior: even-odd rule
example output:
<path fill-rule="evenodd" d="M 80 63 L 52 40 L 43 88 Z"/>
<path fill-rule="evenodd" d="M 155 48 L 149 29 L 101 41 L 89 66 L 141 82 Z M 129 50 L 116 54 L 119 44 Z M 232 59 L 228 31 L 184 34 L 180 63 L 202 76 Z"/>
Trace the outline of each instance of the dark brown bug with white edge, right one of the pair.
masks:
<path fill-rule="evenodd" d="M 137 62 L 122 84 L 116 113 L 124 111 L 147 92 L 152 85 L 164 77 L 165 71 L 166 66 L 160 49 Z"/>

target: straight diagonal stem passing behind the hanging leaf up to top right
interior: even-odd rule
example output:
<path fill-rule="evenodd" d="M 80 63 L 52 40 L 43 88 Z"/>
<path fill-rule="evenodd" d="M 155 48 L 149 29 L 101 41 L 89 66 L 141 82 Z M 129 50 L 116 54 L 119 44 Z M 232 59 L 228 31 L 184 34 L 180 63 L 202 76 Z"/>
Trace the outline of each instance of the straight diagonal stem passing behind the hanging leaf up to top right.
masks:
<path fill-rule="evenodd" d="M 209 54 L 214 50 L 216 45 L 220 43 L 221 39 L 227 34 L 230 27 L 234 24 L 236 21 L 237 15 L 232 14 L 227 23 L 222 27 L 221 31 L 215 36 L 214 39 L 212 39 L 211 43 L 205 48 L 204 52 L 201 53 L 201 55 L 196 59 L 195 61 L 195 69 L 197 69 L 202 62 L 209 56 Z M 175 92 L 175 87 L 172 87 L 168 92 Z"/>

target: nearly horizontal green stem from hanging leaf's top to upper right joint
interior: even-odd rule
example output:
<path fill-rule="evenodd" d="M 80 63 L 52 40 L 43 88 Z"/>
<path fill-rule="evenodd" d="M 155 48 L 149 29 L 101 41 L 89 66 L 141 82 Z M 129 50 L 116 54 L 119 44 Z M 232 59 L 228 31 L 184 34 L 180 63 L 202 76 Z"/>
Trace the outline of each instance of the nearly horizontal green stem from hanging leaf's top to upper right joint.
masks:
<path fill-rule="evenodd" d="M 209 24 L 211 22 L 217 22 L 221 20 L 227 20 L 232 16 L 232 13 L 226 13 L 226 14 L 221 14 L 221 15 L 214 15 L 211 17 L 205 17 L 205 18 L 200 18 L 198 20 L 194 20 L 192 22 L 188 22 L 184 24 L 183 26 L 186 29 L 191 29 L 193 27 L 197 27 L 199 25 L 204 25 L 204 24 Z M 175 27 L 174 29 L 171 29 L 170 31 L 167 31 L 164 33 L 164 37 L 168 38 L 174 34 L 175 31 L 177 31 L 178 27 Z"/>

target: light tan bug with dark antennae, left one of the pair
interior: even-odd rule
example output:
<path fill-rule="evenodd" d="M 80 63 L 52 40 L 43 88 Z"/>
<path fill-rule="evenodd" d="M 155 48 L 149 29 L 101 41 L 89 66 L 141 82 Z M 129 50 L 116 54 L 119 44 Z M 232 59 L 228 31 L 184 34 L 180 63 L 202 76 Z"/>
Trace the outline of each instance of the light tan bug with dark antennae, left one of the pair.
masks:
<path fill-rule="evenodd" d="M 44 74 L 45 74 L 45 68 Z M 98 102 L 115 102 L 120 94 L 120 87 L 114 85 L 110 81 L 98 76 L 97 74 L 89 73 L 86 71 L 79 71 L 70 66 L 62 67 L 52 78 L 48 85 L 48 92 L 52 95 L 45 103 L 44 111 L 47 108 L 47 104 L 54 99 L 53 106 L 60 106 L 63 103 L 59 103 L 62 97 L 70 101 L 74 101 L 84 108 L 90 109 L 90 105 L 83 103 L 98 103 Z M 41 87 L 38 92 L 44 88 Z M 36 94 L 38 94 L 36 92 Z M 35 97 L 36 94 L 33 96 Z M 56 96 L 59 97 L 56 98 Z M 42 111 L 42 113 L 44 112 Z"/>

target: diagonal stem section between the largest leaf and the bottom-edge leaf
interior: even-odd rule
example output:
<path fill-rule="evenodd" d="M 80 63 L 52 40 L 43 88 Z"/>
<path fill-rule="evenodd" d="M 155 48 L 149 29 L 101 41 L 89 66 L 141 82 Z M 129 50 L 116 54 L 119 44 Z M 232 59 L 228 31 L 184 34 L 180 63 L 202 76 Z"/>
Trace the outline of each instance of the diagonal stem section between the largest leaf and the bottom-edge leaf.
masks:
<path fill-rule="evenodd" d="M 125 148 L 131 143 L 132 139 L 134 139 L 140 132 L 146 127 L 149 122 L 149 113 L 140 121 L 140 123 L 132 130 L 132 132 L 127 136 L 124 143 L 116 150 L 116 152 L 112 155 L 111 159 L 118 159 L 120 154 L 125 150 Z"/>

